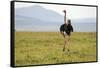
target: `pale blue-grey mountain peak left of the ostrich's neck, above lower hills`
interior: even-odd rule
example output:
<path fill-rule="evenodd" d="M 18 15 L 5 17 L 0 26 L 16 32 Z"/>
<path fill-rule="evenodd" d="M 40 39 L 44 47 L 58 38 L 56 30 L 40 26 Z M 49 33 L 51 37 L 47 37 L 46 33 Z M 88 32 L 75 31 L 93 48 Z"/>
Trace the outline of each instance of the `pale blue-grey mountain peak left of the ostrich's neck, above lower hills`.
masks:
<path fill-rule="evenodd" d="M 55 11 L 45 9 L 41 6 L 17 8 L 16 15 L 37 18 L 50 22 L 58 22 L 63 20 L 63 16 L 60 14 L 56 13 Z"/>

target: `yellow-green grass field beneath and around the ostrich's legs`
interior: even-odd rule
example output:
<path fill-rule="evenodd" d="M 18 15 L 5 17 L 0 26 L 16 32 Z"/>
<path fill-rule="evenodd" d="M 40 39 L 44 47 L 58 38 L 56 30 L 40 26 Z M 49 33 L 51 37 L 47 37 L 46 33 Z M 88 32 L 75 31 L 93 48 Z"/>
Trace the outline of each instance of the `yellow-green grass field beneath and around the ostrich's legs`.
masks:
<path fill-rule="evenodd" d="M 63 52 L 59 32 L 15 32 L 15 65 L 96 61 L 96 33 L 74 32 Z"/>

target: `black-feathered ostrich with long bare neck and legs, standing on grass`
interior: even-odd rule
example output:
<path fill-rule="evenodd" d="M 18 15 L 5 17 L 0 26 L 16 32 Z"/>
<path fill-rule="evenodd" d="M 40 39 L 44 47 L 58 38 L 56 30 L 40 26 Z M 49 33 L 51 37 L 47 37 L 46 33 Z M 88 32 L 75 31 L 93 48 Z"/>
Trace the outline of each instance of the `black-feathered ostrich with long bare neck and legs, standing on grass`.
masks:
<path fill-rule="evenodd" d="M 64 24 L 62 24 L 60 26 L 60 33 L 64 37 L 64 47 L 63 47 L 63 51 L 65 51 L 65 45 L 69 41 L 68 37 L 70 37 L 71 32 L 73 32 L 73 27 L 71 25 L 71 20 L 70 19 L 68 19 L 67 22 L 66 22 L 66 10 L 64 10 L 63 12 L 65 14 L 64 15 Z M 66 38 L 66 36 L 67 36 L 67 38 Z M 69 49 L 68 49 L 68 51 L 69 51 Z"/>

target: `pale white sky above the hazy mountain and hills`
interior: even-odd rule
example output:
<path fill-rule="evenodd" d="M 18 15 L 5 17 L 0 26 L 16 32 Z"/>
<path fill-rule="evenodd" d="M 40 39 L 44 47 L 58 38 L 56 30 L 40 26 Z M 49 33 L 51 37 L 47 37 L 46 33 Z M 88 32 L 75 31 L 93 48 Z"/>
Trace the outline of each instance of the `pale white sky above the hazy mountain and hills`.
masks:
<path fill-rule="evenodd" d="M 70 18 L 70 19 L 96 18 L 96 8 L 95 7 L 16 2 L 15 8 L 30 7 L 34 5 L 40 5 L 48 10 L 53 10 L 59 13 L 60 15 L 64 15 L 62 11 L 66 10 L 67 18 Z"/>

